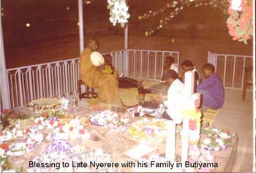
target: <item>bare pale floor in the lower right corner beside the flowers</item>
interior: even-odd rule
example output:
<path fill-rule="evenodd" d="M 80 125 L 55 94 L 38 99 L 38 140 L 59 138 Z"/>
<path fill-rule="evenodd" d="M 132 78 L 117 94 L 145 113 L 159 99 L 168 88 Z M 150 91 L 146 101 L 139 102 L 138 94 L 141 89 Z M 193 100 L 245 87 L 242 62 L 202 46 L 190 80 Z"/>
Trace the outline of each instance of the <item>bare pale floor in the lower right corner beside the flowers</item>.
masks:
<path fill-rule="evenodd" d="M 238 134 L 238 150 L 234 172 L 252 172 L 253 168 L 253 101 L 252 91 L 241 100 L 241 91 L 225 90 L 225 104 L 214 120 L 213 126 L 227 128 Z"/>

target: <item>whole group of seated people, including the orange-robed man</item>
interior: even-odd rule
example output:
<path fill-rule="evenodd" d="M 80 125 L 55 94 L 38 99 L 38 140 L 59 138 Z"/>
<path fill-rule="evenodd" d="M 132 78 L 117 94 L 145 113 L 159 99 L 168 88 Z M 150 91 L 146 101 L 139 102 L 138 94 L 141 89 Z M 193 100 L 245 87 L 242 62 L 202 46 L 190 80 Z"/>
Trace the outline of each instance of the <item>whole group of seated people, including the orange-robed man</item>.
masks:
<path fill-rule="evenodd" d="M 178 77 L 178 69 L 173 57 L 166 57 L 162 72 L 162 81 L 150 88 L 144 88 L 147 80 L 134 80 L 129 77 L 118 76 L 113 67 L 112 56 L 105 55 L 105 63 L 94 66 L 91 63 L 90 55 L 99 48 L 99 42 L 91 39 L 88 46 L 83 50 L 80 57 L 80 80 L 90 88 L 98 88 L 99 101 L 119 100 L 118 88 L 138 88 L 143 93 L 162 93 L 167 96 L 167 102 L 173 104 L 178 95 L 184 94 L 184 73 L 195 71 L 195 92 L 203 96 L 203 109 L 219 109 L 224 104 L 224 86 L 222 80 L 215 73 L 212 64 L 204 64 L 202 67 L 202 78 L 195 69 L 192 61 L 183 61 L 181 67 L 183 73 Z"/>

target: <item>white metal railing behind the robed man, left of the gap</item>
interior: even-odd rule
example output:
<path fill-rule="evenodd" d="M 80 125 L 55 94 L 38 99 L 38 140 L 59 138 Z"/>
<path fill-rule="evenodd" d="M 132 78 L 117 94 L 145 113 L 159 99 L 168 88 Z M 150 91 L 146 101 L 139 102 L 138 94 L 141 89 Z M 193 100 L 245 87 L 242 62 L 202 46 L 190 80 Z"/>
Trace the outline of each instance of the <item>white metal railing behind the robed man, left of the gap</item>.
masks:
<path fill-rule="evenodd" d="M 179 53 L 173 51 L 118 50 L 110 54 L 115 69 L 127 77 L 160 80 L 164 58 L 169 55 L 179 64 Z M 79 58 L 7 69 L 7 74 L 11 107 L 20 107 L 34 99 L 76 93 Z"/>

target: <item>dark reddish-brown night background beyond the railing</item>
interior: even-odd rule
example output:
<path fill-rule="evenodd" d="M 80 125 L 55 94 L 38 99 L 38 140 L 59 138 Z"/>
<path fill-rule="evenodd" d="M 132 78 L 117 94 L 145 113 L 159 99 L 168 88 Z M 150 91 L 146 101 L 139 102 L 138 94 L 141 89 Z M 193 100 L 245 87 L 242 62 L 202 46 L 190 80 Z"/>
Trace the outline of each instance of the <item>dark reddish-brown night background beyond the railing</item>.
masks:
<path fill-rule="evenodd" d="M 205 42 L 214 42 L 216 45 L 219 45 L 220 42 L 230 45 L 228 42 L 232 42 L 235 46 L 241 46 L 241 50 L 244 51 L 242 53 L 238 52 L 239 54 L 252 55 L 252 41 L 249 40 L 248 45 L 233 41 L 228 34 L 226 24 L 228 16 L 224 15 L 220 9 L 207 6 L 185 7 L 162 30 L 154 33 L 151 38 L 145 38 L 145 31 L 157 27 L 160 18 L 167 13 L 144 21 L 139 21 L 138 16 L 149 10 L 159 9 L 166 2 L 166 0 L 127 1 L 131 15 L 129 18 L 129 37 L 137 36 L 143 39 L 143 42 L 148 42 L 149 44 L 144 47 L 154 50 L 172 50 L 172 47 L 165 46 L 163 43 L 162 47 L 151 48 L 151 41 L 146 40 L 161 37 L 166 39 L 176 38 L 176 40 L 189 39 L 189 42 L 191 42 L 192 40 L 205 39 Z M 83 1 L 84 35 L 86 39 L 88 36 L 117 36 L 123 39 L 124 29 L 121 26 L 112 26 L 109 21 L 107 5 L 107 0 L 94 0 L 91 4 L 86 4 L 86 1 Z M 56 58 L 56 60 L 79 56 L 77 0 L 3 0 L 1 1 L 1 18 L 7 67 L 18 66 L 17 64 L 15 65 L 15 59 L 20 58 L 23 60 L 24 57 L 27 58 L 30 55 L 31 58 L 37 56 L 38 59 L 44 59 L 43 61 L 31 62 L 31 64 L 55 60 L 54 58 L 46 58 L 48 59 L 46 60 L 43 55 L 42 58 L 39 58 L 38 53 L 33 56 L 34 52 L 32 50 L 38 49 L 34 47 L 36 45 L 40 49 L 45 47 L 45 50 L 48 51 L 46 53 L 43 50 L 45 54 L 48 54 L 48 57 L 52 56 L 54 53 L 49 52 L 49 50 L 53 47 L 47 45 L 48 43 L 58 45 L 58 47 L 54 48 L 56 50 L 61 49 L 61 51 L 66 49 L 66 47 L 61 47 L 62 44 L 69 44 L 70 51 L 62 53 L 64 56 Z M 26 23 L 30 23 L 31 26 L 27 28 Z M 144 39 L 146 40 L 144 41 Z M 133 37 L 129 39 L 131 41 L 129 44 L 131 46 L 136 45 L 136 41 L 132 43 L 132 40 L 136 39 L 133 39 Z M 123 41 L 121 42 L 123 44 Z M 143 44 L 138 45 L 136 48 L 140 49 Z M 118 50 L 119 47 L 112 45 L 113 50 Z M 184 45 L 178 45 L 178 42 L 176 42 L 176 47 L 173 47 L 173 49 L 181 50 L 182 47 Z M 110 50 L 108 48 L 105 49 L 104 44 L 101 45 L 101 48 L 102 51 Z M 225 53 L 225 50 L 223 51 Z M 60 52 L 56 52 L 55 57 L 60 54 Z M 28 63 L 24 65 L 28 65 Z"/>

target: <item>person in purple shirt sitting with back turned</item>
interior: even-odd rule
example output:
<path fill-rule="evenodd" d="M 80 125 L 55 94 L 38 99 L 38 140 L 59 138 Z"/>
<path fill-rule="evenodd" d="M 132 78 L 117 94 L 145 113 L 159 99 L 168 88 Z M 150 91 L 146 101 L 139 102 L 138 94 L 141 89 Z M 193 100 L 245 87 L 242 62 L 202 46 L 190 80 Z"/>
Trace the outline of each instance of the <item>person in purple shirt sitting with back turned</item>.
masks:
<path fill-rule="evenodd" d="M 224 104 L 224 86 L 222 80 L 215 73 L 214 65 L 204 64 L 203 77 L 206 80 L 197 85 L 197 93 L 203 95 L 203 109 L 219 109 Z"/>

